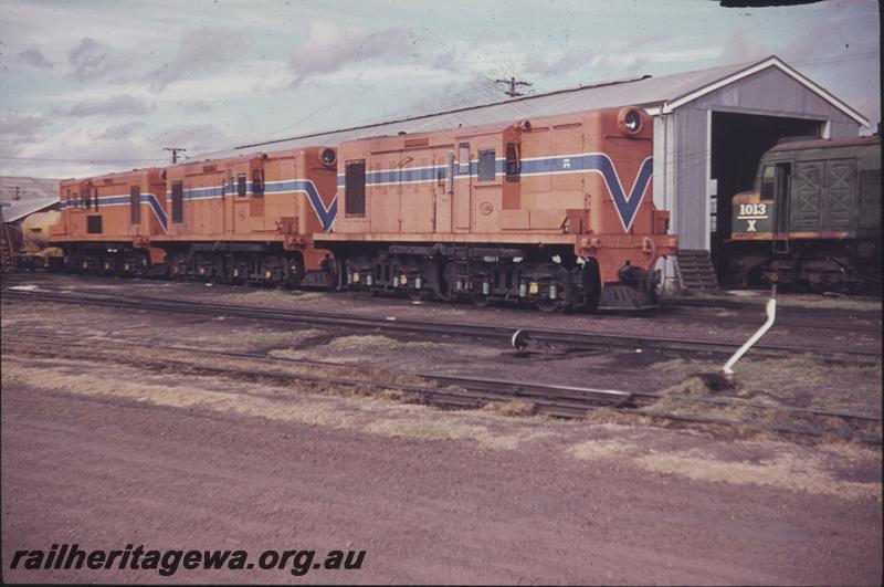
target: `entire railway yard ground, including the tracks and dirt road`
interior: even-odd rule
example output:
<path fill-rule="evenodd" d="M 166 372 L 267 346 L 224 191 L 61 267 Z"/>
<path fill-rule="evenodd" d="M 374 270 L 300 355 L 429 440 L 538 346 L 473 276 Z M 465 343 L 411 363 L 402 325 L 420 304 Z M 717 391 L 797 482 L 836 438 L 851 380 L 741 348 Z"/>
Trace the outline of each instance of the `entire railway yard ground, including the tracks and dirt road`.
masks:
<path fill-rule="evenodd" d="M 3 276 L 3 579 L 166 579 L 10 570 L 80 543 L 367 551 L 307 583 L 877 585 L 881 301 L 781 295 L 736 385 L 707 386 L 766 300 L 544 314 Z"/>

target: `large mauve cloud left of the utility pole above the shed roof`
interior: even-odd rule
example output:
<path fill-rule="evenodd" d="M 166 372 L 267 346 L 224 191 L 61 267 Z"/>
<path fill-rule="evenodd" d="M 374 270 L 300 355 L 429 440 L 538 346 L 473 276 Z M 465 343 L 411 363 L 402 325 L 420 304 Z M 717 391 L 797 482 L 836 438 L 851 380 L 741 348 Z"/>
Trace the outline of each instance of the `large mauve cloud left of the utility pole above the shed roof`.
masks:
<path fill-rule="evenodd" d="M 332 73 L 346 65 L 389 56 L 406 61 L 415 52 L 414 35 L 400 27 L 377 32 L 345 30 L 339 23 L 314 19 L 307 39 L 297 45 L 288 60 L 295 74 L 292 85 L 299 85 L 313 75 Z"/>

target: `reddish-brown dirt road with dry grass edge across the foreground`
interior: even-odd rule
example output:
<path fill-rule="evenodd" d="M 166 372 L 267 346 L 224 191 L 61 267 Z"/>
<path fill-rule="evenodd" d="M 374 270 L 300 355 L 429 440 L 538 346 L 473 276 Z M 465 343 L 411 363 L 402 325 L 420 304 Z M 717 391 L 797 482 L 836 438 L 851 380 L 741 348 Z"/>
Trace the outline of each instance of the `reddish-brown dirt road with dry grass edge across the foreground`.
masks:
<path fill-rule="evenodd" d="M 442 412 L 3 356 L 6 581 L 878 584 L 880 449 Z M 15 551 L 365 549 L 358 570 Z M 20 565 L 21 567 L 21 565 Z"/>

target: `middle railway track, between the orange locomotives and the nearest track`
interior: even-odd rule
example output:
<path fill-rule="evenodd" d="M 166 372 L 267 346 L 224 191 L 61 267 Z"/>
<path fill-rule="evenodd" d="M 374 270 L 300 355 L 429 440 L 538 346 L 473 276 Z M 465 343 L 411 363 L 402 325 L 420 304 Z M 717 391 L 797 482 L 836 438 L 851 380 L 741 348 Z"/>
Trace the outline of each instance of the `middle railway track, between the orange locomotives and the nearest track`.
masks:
<path fill-rule="evenodd" d="M 248 319 L 271 321 L 274 323 L 308 324 L 312 326 L 346 327 L 387 333 L 408 333 L 428 336 L 461 336 L 474 339 L 511 340 L 514 328 L 473 323 L 433 322 L 427 319 L 378 318 L 354 314 L 318 312 L 315 310 L 280 310 L 259 308 L 233 304 L 210 302 L 192 302 L 182 300 L 164 300 L 137 294 L 98 294 L 49 290 L 35 287 L 23 291 L 6 287 L 4 298 L 29 300 L 76 305 L 117 307 L 130 311 L 152 311 L 183 314 L 224 315 Z M 632 335 L 607 333 L 599 331 L 556 331 L 529 328 L 525 331 L 535 343 L 567 347 L 571 349 L 611 349 L 641 348 L 669 352 L 705 353 L 729 355 L 739 348 L 741 343 L 724 340 L 676 338 L 653 335 Z M 843 347 L 820 347 L 806 345 L 785 345 L 760 342 L 753 348 L 754 353 L 769 356 L 791 356 L 810 354 L 821 358 L 844 358 L 877 360 L 876 350 L 844 349 Z"/>

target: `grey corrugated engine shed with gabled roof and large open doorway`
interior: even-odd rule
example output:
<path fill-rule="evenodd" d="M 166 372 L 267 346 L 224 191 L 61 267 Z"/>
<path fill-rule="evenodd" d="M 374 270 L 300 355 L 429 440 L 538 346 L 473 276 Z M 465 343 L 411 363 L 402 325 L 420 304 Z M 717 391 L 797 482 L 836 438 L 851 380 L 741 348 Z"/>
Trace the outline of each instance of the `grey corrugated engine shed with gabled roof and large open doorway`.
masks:
<path fill-rule="evenodd" d="M 734 195 L 753 188 L 762 154 L 785 137 L 852 138 L 869 120 L 832 93 L 771 55 L 664 76 L 644 75 L 533 94 L 358 127 L 305 134 L 203 154 L 206 158 L 260 150 L 337 145 L 530 119 L 601 107 L 635 105 L 654 117 L 653 199 L 671 212 L 678 259 L 661 261 L 664 290 L 715 289 L 730 277 Z"/>

